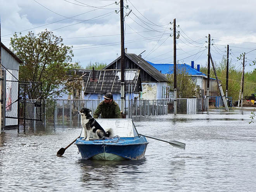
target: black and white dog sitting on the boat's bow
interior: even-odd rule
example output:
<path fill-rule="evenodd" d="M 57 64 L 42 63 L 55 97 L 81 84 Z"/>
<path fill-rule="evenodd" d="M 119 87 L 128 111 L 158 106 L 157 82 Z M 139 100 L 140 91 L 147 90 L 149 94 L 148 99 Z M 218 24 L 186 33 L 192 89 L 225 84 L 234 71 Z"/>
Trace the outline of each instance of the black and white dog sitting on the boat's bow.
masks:
<path fill-rule="evenodd" d="M 87 108 L 83 108 L 78 112 L 78 114 L 81 115 L 81 124 L 84 132 L 83 140 L 86 138 L 86 141 L 88 141 L 90 137 L 93 139 L 109 137 L 111 128 L 105 132 L 100 124 L 92 117 L 91 112 L 92 111 Z"/>

